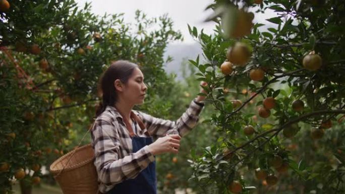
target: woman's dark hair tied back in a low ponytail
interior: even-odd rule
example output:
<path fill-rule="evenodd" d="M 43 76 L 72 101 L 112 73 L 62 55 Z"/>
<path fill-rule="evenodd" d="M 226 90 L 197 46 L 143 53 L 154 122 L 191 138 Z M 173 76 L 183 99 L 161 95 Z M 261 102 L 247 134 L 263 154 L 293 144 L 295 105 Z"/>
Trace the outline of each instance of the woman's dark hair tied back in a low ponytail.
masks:
<path fill-rule="evenodd" d="M 133 62 L 117 60 L 112 62 L 108 69 L 103 72 L 98 82 L 98 95 L 102 97 L 102 101 L 96 110 L 96 116 L 100 115 L 106 106 L 114 106 L 116 103 L 118 96 L 114 81 L 119 79 L 126 84 L 136 68 L 138 68 L 138 65 Z"/>

